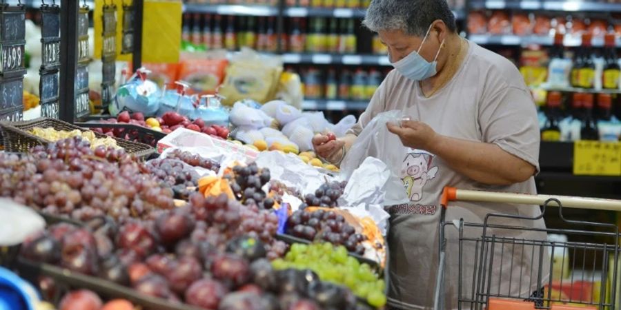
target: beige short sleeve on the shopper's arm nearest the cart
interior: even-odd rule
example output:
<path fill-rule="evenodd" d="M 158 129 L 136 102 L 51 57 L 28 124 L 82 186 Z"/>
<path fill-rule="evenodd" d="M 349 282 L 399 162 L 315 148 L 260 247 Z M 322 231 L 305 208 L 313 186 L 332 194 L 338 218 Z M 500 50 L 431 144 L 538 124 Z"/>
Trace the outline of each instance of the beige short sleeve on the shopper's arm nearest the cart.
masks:
<path fill-rule="evenodd" d="M 484 98 L 479 111 L 483 142 L 493 143 L 539 168 L 541 134 L 530 92 L 506 86 Z"/>

